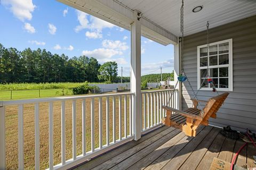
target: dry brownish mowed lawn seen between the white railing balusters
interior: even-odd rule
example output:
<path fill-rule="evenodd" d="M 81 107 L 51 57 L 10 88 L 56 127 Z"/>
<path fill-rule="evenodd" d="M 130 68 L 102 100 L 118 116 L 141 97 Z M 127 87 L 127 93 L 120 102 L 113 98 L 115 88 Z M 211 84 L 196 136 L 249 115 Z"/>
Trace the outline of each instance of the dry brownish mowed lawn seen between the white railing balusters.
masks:
<path fill-rule="evenodd" d="M 99 102 L 94 99 L 95 148 L 99 147 Z M 119 137 L 119 108 L 116 98 L 116 139 Z M 143 101 L 143 100 L 142 100 Z M 143 104 L 142 104 L 143 106 Z M 53 103 L 54 165 L 61 163 L 61 103 Z M 142 110 L 143 113 L 143 110 Z M 102 98 L 103 145 L 106 144 L 106 98 Z M 34 105 L 24 105 L 24 154 L 25 169 L 35 169 Z M 130 134 L 129 97 L 127 97 L 127 135 Z M 142 116 L 143 117 L 143 116 Z M 143 119 L 143 118 L 142 118 Z M 144 122 L 142 120 L 142 122 Z M 72 101 L 66 101 L 66 160 L 72 158 Z M 6 167 L 18 168 L 18 106 L 6 107 Z M 49 165 L 49 104 L 39 104 L 40 168 Z M 113 141 L 113 98 L 109 99 L 109 135 Z M 124 137 L 124 96 L 122 97 L 122 136 Z M 82 154 L 82 100 L 76 101 L 77 155 Z M 91 99 L 86 99 L 86 150 L 91 150 Z"/>

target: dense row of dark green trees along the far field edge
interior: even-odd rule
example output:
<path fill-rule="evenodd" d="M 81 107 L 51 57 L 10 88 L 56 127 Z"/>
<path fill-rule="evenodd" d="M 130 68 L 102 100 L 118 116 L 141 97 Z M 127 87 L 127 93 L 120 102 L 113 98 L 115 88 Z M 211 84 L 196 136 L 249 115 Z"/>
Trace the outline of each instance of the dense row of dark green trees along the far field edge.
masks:
<path fill-rule="evenodd" d="M 111 82 L 118 81 L 120 78 L 117 77 L 117 64 L 107 63 L 107 66 L 116 65 L 111 70 L 114 76 L 111 77 Z M 93 57 L 69 58 L 65 54 L 52 54 L 41 48 L 19 51 L 0 44 L 0 83 L 109 81 L 106 76 L 100 75 L 100 71 L 105 71 L 104 68 L 100 70 L 100 67 Z"/>

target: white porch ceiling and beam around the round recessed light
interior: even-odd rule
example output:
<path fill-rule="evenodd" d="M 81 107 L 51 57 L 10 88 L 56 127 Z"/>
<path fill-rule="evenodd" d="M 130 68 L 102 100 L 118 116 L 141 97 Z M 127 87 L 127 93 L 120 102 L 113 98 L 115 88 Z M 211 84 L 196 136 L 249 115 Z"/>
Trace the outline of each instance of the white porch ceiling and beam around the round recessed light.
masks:
<path fill-rule="evenodd" d="M 57 0 L 100 19 L 131 29 L 133 12 L 142 13 L 141 35 L 160 44 L 177 44 L 181 0 Z M 202 5 L 202 11 L 192 12 Z M 254 0 L 185 0 L 185 36 L 256 15 Z"/>

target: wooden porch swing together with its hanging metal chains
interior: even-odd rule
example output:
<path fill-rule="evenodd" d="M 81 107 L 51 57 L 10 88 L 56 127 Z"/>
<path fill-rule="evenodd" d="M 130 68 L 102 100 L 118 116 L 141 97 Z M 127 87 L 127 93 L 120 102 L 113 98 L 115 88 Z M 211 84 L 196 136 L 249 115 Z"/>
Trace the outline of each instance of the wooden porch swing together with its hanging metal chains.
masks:
<path fill-rule="evenodd" d="M 181 58 L 183 58 L 183 0 L 182 0 L 182 5 L 180 8 L 180 30 L 181 30 Z M 219 108 L 221 105 L 224 103 L 225 99 L 229 95 L 228 92 L 225 92 L 221 95 L 219 95 L 217 89 L 215 88 L 215 84 L 213 80 L 210 78 L 209 75 L 209 22 L 206 24 L 207 27 L 207 61 L 206 61 L 206 66 L 207 66 L 207 71 L 204 77 L 204 81 L 207 79 L 209 86 L 212 86 L 213 92 L 217 92 L 218 96 L 210 98 L 208 101 L 205 100 L 198 100 L 197 99 L 197 94 L 199 90 L 202 88 L 202 85 L 204 84 L 204 81 L 201 83 L 201 86 L 195 92 L 193 90 L 193 87 L 191 86 L 188 77 L 186 73 L 184 72 L 183 69 L 183 63 L 181 66 L 181 73 L 178 77 L 178 81 L 174 86 L 174 89 L 177 87 L 177 84 L 179 82 L 184 82 L 187 80 L 191 90 L 194 93 L 194 98 L 191 99 L 193 101 L 194 107 L 192 108 L 187 108 L 183 111 L 179 111 L 178 109 L 169 107 L 170 99 L 172 98 L 173 92 L 171 94 L 171 97 L 167 103 L 167 106 L 162 106 L 163 109 L 166 110 L 166 116 L 163 118 L 163 124 L 167 126 L 173 126 L 174 128 L 178 128 L 182 130 L 183 132 L 186 133 L 186 135 L 190 137 L 195 137 L 196 136 L 196 129 L 197 127 L 202 124 L 202 125 L 208 125 L 208 120 L 210 117 L 216 118 L 217 115 L 216 113 L 218 112 Z M 200 103 L 205 103 L 205 107 L 202 108 Z M 199 107 L 200 109 L 198 109 Z M 173 113 L 173 114 L 172 114 Z"/>

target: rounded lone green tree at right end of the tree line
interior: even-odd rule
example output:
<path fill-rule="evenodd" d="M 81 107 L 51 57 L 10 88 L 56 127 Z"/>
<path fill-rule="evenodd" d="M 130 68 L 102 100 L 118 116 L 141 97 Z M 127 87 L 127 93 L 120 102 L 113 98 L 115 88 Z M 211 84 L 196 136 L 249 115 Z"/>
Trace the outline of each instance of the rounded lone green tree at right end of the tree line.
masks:
<path fill-rule="evenodd" d="M 117 63 L 106 62 L 100 66 L 99 69 L 99 80 L 114 82 L 117 77 Z"/>

